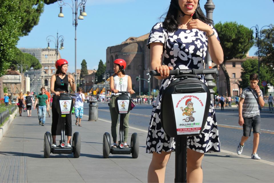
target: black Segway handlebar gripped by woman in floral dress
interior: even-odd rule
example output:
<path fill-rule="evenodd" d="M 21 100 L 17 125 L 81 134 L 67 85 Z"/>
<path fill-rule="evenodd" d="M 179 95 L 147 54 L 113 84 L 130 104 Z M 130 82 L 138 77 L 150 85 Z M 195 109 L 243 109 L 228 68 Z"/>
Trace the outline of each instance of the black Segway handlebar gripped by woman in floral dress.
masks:
<path fill-rule="evenodd" d="M 182 75 L 182 74 L 217 74 L 217 69 L 175 69 L 170 70 L 169 75 Z M 149 72 L 151 76 L 160 76 L 160 73 L 157 70 L 151 70 Z"/>

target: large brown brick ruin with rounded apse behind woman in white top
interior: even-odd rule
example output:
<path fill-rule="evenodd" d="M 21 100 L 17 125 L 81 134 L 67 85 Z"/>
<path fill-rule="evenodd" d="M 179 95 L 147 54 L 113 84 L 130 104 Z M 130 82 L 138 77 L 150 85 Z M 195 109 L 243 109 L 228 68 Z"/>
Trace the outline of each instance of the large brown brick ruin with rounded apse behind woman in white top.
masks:
<path fill-rule="evenodd" d="M 114 74 L 113 61 L 115 59 L 124 59 L 126 61 L 125 73 L 130 75 L 132 79 L 132 88 L 137 95 L 141 92 L 147 95 L 148 82 L 142 79 L 148 80 L 147 75 L 150 70 L 150 50 L 146 46 L 148 41 L 148 34 L 140 37 L 129 37 L 126 41 L 120 45 L 110 46 L 106 49 L 106 73 L 110 75 Z M 136 77 L 142 78 L 136 81 Z M 159 89 L 160 81 L 151 77 L 150 88 Z"/>

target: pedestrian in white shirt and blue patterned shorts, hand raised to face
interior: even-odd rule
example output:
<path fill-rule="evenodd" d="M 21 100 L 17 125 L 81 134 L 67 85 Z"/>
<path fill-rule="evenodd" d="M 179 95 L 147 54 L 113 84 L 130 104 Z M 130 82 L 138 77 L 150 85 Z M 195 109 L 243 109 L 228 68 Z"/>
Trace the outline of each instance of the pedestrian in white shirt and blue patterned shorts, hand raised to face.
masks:
<path fill-rule="evenodd" d="M 81 120 L 84 114 L 84 102 L 85 102 L 85 94 L 83 94 L 83 89 L 81 87 L 78 87 L 77 93 L 75 95 L 76 97 L 73 97 L 75 99 L 75 103 L 74 103 L 74 114 L 76 117 L 75 125 L 82 126 Z"/>

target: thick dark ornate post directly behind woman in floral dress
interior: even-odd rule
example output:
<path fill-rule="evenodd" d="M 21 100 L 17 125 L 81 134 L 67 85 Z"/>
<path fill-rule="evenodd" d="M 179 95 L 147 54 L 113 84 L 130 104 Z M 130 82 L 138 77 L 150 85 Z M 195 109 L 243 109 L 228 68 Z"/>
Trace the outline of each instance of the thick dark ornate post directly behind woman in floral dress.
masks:
<path fill-rule="evenodd" d="M 213 4 L 212 0 L 207 0 L 206 4 L 205 4 L 205 9 L 206 9 L 206 17 L 208 19 L 211 19 L 213 20 L 213 10 L 215 9 L 215 5 Z M 209 55 L 209 52 L 208 52 L 208 49 L 207 49 L 207 53 L 206 53 L 206 59 L 205 59 L 205 62 L 206 62 L 206 68 L 210 68 L 211 67 L 211 63 L 212 63 L 212 60 L 211 60 L 211 57 Z M 214 100 L 214 90 L 213 90 L 213 87 L 216 86 L 216 84 L 212 81 L 214 78 L 211 74 L 207 74 L 205 75 L 205 78 L 206 78 L 206 81 L 207 81 L 207 86 L 209 87 L 209 90 L 210 90 L 210 93 L 211 93 L 211 101 L 213 103 L 213 100 Z"/>

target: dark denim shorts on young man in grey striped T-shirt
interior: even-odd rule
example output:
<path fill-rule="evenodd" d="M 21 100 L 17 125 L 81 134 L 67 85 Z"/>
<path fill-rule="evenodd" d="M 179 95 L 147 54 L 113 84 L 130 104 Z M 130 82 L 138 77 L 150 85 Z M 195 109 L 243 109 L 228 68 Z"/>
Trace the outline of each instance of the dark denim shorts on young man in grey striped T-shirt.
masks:
<path fill-rule="evenodd" d="M 254 133 L 261 133 L 261 117 L 260 115 L 251 117 L 251 118 L 243 118 L 243 136 L 250 137 L 251 128 Z"/>

